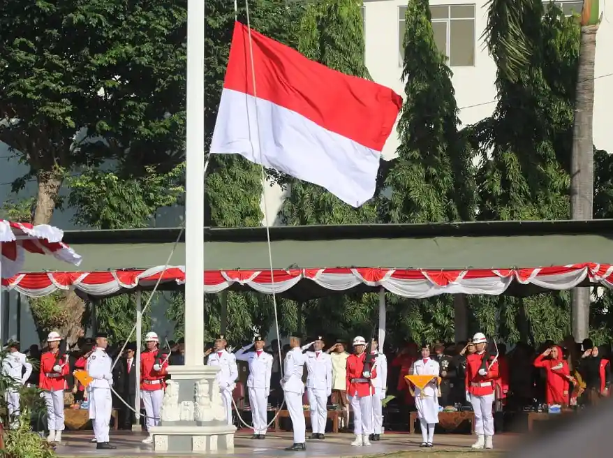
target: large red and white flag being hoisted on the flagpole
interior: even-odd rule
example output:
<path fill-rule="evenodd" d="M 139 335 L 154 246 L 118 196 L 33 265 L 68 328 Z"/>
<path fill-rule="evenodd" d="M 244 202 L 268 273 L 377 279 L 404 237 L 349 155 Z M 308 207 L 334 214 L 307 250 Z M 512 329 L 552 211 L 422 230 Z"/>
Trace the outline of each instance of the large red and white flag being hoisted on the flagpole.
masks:
<path fill-rule="evenodd" d="M 253 30 L 250 46 L 249 29 L 236 22 L 211 153 L 240 154 L 360 207 L 374 195 L 381 150 L 401 105 L 392 89 Z"/>

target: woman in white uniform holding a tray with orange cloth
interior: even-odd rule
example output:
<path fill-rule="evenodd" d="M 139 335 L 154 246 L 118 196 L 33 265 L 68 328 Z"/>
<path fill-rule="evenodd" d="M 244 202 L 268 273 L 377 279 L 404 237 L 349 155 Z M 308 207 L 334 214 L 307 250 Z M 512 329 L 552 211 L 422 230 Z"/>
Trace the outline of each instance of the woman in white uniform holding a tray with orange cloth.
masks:
<path fill-rule="evenodd" d="M 441 367 L 430 357 L 428 344 L 422 345 L 422 359 L 413 363 L 411 374 L 415 376 L 436 376 L 440 374 Z M 438 382 L 434 377 L 423 390 L 415 387 L 415 407 L 418 409 L 418 418 L 422 429 L 422 445 L 432 447 L 434 441 L 434 427 L 438 423 Z"/>

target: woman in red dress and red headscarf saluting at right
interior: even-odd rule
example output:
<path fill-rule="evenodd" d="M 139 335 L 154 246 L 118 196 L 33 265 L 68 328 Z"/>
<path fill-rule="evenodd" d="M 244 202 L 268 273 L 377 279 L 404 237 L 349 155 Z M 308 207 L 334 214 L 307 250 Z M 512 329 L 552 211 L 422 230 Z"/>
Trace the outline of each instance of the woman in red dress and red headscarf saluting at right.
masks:
<path fill-rule="evenodd" d="M 547 404 L 568 406 L 570 371 L 559 346 L 547 348 L 534 360 L 534 367 L 545 369 L 545 401 Z"/>

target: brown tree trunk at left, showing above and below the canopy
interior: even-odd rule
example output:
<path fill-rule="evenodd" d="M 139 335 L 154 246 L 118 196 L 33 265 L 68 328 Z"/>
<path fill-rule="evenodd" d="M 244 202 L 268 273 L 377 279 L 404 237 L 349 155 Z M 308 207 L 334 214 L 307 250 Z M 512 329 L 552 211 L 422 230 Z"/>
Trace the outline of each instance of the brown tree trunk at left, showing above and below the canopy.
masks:
<path fill-rule="evenodd" d="M 59 189 L 64 180 L 52 171 L 39 171 L 36 178 L 38 192 L 36 193 L 36 207 L 32 216 L 32 223 L 50 224 L 57 203 Z M 62 295 L 59 305 L 62 309 L 66 310 L 71 319 L 60 329 L 54 329 L 54 331 L 59 332 L 62 337 L 65 337 L 68 345 L 73 345 L 82 335 L 82 318 L 85 312 L 85 302 L 74 291 L 66 291 Z M 45 314 L 43 313 L 41 316 L 45 316 Z M 51 331 L 48 323 L 41 323 L 40 320 L 36 320 L 36 313 L 33 313 L 33 318 L 37 322 L 36 327 L 39 330 L 39 334 L 44 334 L 44 332 L 40 332 L 41 330 Z"/>

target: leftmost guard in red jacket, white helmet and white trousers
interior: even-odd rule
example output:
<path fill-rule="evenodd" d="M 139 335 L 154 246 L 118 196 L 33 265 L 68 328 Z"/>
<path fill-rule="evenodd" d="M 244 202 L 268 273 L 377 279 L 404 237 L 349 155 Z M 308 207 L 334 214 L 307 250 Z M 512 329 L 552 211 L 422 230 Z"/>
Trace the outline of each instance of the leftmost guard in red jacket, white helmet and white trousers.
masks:
<path fill-rule="evenodd" d="M 47 442 L 61 442 L 61 431 L 64 431 L 64 390 L 66 376 L 70 372 L 68 355 L 59 354 L 61 336 L 50 332 L 47 336 L 49 350 L 40 357 L 40 378 L 38 387 L 43 390 L 47 405 Z"/>

